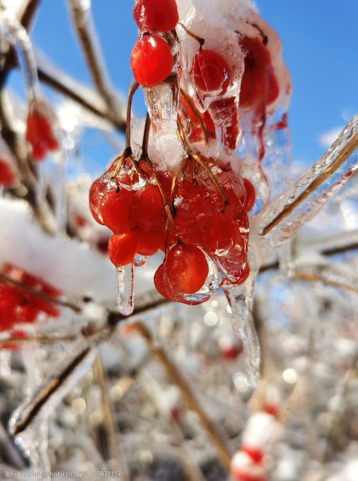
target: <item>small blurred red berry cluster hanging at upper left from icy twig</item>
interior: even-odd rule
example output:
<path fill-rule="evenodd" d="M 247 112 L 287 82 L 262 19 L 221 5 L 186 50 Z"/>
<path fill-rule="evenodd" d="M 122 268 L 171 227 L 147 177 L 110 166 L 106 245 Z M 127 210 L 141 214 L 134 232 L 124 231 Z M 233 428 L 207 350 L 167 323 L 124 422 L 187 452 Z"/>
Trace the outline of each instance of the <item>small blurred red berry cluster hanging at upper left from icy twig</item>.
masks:
<path fill-rule="evenodd" d="M 53 131 L 53 119 L 47 105 L 34 101 L 27 115 L 26 141 L 32 147 L 35 160 L 43 160 L 48 152 L 58 149 L 58 140 Z"/>

